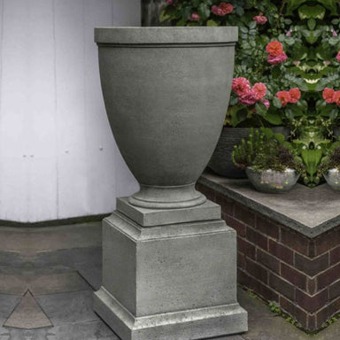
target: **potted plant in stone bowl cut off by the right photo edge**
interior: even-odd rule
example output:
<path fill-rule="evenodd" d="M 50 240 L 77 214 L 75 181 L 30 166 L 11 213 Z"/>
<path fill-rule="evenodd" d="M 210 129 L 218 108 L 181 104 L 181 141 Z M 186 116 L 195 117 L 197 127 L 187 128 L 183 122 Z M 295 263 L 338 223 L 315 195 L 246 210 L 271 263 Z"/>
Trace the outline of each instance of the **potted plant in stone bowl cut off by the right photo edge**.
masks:
<path fill-rule="evenodd" d="M 340 142 L 329 147 L 326 156 L 321 159 L 318 175 L 323 175 L 332 189 L 340 190 Z"/>

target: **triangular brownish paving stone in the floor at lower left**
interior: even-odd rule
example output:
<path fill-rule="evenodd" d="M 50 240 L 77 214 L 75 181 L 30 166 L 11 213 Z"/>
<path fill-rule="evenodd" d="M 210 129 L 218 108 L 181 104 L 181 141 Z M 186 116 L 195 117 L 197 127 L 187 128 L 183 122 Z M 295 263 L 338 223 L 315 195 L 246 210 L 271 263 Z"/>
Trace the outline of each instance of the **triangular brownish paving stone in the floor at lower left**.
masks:
<path fill-rule="evenodd" d="M 14 309 L 11 316 L 4 322 L 4 327 L 12 328 L 44 328 L 50 327 L 52 324 L 43 313 L 42 308 L 35 301 L 28 290 L 25 296 L 19 302 L 19 305 Z"/>

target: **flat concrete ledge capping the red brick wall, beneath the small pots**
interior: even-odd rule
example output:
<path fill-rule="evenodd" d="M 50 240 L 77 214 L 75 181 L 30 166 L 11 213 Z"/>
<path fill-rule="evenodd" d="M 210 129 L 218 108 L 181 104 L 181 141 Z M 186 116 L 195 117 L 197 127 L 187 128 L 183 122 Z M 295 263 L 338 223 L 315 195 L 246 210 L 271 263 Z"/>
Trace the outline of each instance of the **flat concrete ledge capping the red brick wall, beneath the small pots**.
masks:
<path fill-rule="evenodd" d="M 256 191 L 248 180 L 212 172 L 203 174 L 198 183 L 310 238 L 340 225 L 340 193 L 327 184 L 313 189 L 298 184 L 288 193 L 275 195 Z"/>

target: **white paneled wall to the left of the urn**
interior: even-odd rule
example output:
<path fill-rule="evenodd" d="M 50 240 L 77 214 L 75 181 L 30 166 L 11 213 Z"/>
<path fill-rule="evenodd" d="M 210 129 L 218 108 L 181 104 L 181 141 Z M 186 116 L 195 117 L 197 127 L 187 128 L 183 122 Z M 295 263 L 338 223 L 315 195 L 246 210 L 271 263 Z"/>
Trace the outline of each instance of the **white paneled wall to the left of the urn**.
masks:
<path fill-rule="evenodd" d="M 139 5 L 0 0 L 0 220 L 110 213 L 138 188 L 104 112 L 93 27 L 138 26 Z"/>

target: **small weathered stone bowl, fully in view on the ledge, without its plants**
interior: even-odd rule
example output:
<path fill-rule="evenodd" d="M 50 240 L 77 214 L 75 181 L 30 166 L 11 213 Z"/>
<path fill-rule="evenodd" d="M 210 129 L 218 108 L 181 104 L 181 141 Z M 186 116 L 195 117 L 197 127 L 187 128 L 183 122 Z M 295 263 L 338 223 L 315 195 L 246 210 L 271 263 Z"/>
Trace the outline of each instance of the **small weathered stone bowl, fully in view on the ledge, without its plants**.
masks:
<path fill-rule="evenodd" d="M 255 189 L 270 194 L 289 191 L 298 182 L 298 177 L 300 176 L 293 169 L 258 171 L 248 166 L 245 172 Z"/>

